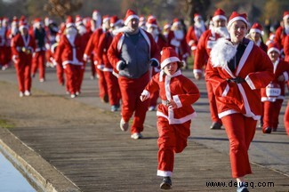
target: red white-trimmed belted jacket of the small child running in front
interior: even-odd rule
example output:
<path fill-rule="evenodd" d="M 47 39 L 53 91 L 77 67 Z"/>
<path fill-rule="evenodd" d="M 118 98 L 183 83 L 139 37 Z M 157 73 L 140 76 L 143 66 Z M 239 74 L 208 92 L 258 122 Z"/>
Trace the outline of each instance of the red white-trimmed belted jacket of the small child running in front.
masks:
<path fill-rule="evenodd" d="M 197 116 L 191 105 L 200 98 L 200 92 L 180 69 L 173 76 L 165 76 L 164 71 L 157 73 L 141 94 L 149 96 L 158 90 L 162 104 L 157 107 L 157 116 L 165 117 L 169 124 L 183 124 Z M 166 100 L 174 100 L 178 108 L 168 108 Z"/>

